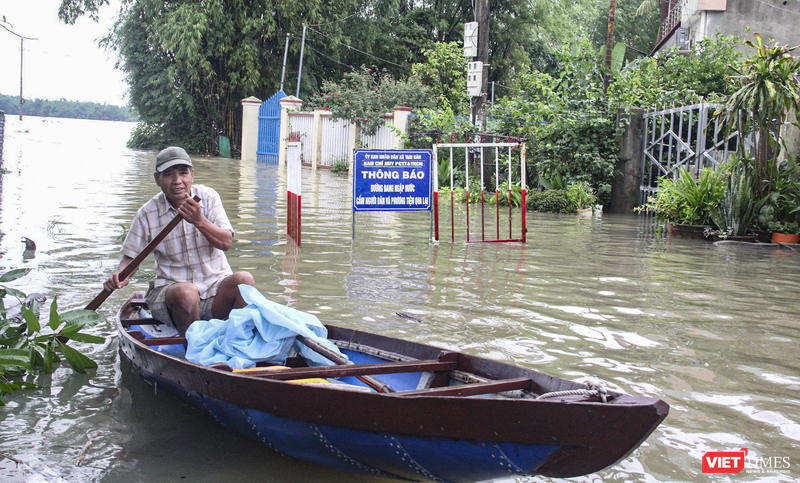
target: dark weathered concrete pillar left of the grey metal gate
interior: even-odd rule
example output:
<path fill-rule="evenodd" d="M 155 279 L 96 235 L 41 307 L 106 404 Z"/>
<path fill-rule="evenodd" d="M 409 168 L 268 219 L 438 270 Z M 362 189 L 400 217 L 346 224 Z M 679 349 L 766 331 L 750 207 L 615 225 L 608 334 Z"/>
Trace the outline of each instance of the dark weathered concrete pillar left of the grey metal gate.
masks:
<path fill-rule="evenodd" d="M 603 211 L 633 213 L 639 204 L 639 184 L 642 180 L 642 141 L 644 110 L 622 108 L 617 112 L 617 125 L 624 126 L 619 141 L 619 154 L 611 182 L 611 202 Z"/>

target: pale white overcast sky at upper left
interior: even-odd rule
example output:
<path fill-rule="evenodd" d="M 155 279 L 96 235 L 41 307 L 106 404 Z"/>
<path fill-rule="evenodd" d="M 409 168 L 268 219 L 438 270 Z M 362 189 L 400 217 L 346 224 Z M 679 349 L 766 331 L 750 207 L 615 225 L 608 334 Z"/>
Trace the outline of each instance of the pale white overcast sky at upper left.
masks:
<path fill-rule="evenodd" d="M 81 17 L 75 25 L 58 19 L 61 0 L 0 0 L 0 19 L 24 36 L 22 97 L 124 105 L 124 75 L 116 55 L 97 45 L 117 12 L 118 0 L 100 10 L 100 22 Z M 19 95 L 20 40 L 0 28 L 0 93 Z"/>

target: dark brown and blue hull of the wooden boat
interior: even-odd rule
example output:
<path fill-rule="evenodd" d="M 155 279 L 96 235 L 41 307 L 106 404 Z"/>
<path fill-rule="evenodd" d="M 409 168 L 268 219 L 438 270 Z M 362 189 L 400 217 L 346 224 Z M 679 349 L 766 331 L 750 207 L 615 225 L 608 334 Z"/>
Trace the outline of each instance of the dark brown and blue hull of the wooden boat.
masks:
<path fill-rule="evenodd" d="M 570 477 L 626 457 L 666 417 L 653 398 L 612 394 L 580 398 L 401 397 L 295 384 L 200 366 L 160 353 L 120 328 L 124 357 L 145 379 L 203 411 L 233 432 L 304 461 L 405 480 L 483 481 L 499 477 Z M 442 349 L 329 326 L 329 338 L 415 359 Z M 355 355 L 355 354 L 351 354 Z M 549 391 L 582 385 L 516 366 L 458 354 L 459 368 L 497 379 L 531 377 Z M 396 375 L 393 375 L 396 376 Z M 398 390 L 419 373 L 391 379 Z M 402 393 L 398 393 L 402 394 Z"/>

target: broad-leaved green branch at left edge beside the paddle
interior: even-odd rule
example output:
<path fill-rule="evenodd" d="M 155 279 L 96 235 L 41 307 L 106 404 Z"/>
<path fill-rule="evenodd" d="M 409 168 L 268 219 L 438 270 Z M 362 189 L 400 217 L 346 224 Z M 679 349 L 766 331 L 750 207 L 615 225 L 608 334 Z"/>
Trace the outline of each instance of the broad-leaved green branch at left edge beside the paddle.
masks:
<path fill-rule="evenodd" d="M 0 275 L 0 282 L 12 282 L 29 270 L 17 269 Z M 6 295 L 17 298 L 20 307 L 20 318 L 9 317 L 2 299 Z M 103 337 L 81 332 L 85 327 L 97 324 L 103 319 L 93 310 L 70 310 L 58 312 L 58 302 L 53 299 L 46 321 L 40 320 L 39 302 L 32 298 L 30 303 L 23 303 L 25 294 L 6 285 L 0 285 L 0 396 L 33 384 L 21 381 L 9 381 L 7 377 L 20 377 L 26 372 L 43 371 L 47 374 L 55 370 L 61 362 L 58 352 L 77 372 L 97 367 L 97 364 L 67 345 L 68 340 L 100 344 Z M 56 351 L 58 349 L 58 352 Z M 0 404 L 3 404 L 0 400 Z"/>

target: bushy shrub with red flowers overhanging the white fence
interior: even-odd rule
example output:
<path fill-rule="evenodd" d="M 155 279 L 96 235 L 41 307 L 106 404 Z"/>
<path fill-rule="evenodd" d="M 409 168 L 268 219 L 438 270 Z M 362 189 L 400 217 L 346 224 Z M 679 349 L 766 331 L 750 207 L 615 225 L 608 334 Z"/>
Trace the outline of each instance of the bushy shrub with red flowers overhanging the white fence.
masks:
<path fill-rule="evenodd" d="M 375 134 L 383 116 L 397 106 L 421 109 L 436 102 L 416 78 L 395 80 L 365 67 L 345 72 L 339 82 L 326 80 L 322 90 L 311 97 L 312 106 L 330 110 L 333 117 L 350 121 L 367 135 Z"/>

